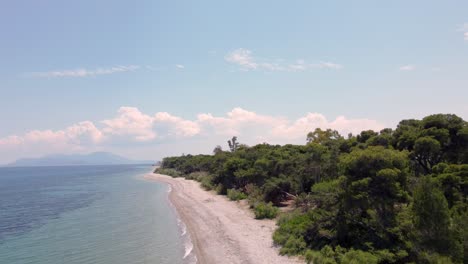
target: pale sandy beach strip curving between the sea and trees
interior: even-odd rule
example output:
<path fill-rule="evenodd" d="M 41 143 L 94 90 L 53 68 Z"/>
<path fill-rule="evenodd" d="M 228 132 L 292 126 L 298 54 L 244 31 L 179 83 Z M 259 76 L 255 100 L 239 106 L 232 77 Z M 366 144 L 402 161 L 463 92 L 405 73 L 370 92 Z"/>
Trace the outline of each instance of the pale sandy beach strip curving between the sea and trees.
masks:
<path fill-rule="evenodd" d="M 278 254 L 274 220 L 256 220 L 245 203 L 229 201 L 196 181 L 149 173 L 148 180 L 171 185 L 170 201 L 186 224 L 198 263 L 303 263 Z"/>

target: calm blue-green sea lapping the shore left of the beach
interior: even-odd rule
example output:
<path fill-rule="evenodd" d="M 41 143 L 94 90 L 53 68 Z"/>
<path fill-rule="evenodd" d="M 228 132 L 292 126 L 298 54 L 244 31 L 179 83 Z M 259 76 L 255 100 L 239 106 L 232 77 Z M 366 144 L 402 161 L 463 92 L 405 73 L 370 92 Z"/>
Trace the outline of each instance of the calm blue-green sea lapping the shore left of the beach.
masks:
<path fill-rule="evenodd" d="M 0 263 L 196 263 L 149 165 L 0 168 Z"/>

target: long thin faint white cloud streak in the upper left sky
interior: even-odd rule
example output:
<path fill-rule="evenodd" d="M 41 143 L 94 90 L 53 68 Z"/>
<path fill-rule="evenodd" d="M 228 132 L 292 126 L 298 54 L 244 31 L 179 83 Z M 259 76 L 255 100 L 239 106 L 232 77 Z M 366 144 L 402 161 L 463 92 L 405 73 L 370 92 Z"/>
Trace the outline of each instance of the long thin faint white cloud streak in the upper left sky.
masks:
<path fill-rule="evenodd" d="M 128 66 L 114 66 L 110 68 L 97 68 L 95 70 L 87 70 L 84 68 L 75 69 L 75 70 L 56 70 L 48 72 L 33 72 L 29 74 L 33 77 L 40 78 L 58 78 L 58 77 L 89 77 L 96 75 L 107 75 L 119 72 L 129 72 L 139 69 L 138 65 L 128 65 Z"/>

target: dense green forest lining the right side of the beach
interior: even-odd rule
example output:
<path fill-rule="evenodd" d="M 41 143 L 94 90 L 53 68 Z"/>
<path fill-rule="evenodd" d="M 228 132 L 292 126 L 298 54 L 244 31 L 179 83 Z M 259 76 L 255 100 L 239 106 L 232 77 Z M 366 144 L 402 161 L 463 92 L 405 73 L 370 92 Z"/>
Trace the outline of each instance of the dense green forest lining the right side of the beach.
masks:
<path fill-rule="evenodd" d="M 456 115 L 228 146 L 157 171 L 247 199 L 257 218 L 278 219 L 280 253 L 309 263 L 468 263 L 468 123 Z"/>

